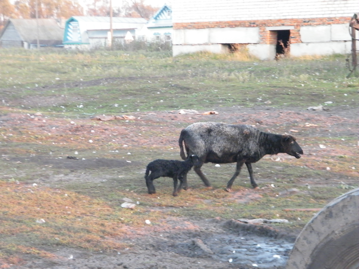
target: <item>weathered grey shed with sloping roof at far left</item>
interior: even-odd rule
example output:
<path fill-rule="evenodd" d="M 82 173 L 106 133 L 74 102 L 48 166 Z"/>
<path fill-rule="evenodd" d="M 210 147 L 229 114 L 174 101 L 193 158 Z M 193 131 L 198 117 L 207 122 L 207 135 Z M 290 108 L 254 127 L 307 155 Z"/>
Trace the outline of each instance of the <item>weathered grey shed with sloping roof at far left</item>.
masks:
<path fill-rule="evenodd" d="M 0 33 L 0 47 L 62 47 L 61 19 L 9 19 Z"/>

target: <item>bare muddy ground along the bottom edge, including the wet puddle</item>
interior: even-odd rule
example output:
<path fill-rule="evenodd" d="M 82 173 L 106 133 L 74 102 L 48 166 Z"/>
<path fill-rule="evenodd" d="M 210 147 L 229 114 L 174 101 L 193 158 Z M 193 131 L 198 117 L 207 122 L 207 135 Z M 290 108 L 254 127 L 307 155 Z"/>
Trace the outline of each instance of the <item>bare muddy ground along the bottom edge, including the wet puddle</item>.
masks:
<path fill-rule="evenodd" d="M 269 226 L 236 220 L 168 220 L 176 229 L 140 231 L 127 237 L 130 247 L 112 253 L 52 249 L 55 259 L 33 259 L 12 268 L 38 269 L 174 269 L 174 268 L 284 268 L 295 235 Z M 70 259 L 71 258 L 71 259 Z"/>

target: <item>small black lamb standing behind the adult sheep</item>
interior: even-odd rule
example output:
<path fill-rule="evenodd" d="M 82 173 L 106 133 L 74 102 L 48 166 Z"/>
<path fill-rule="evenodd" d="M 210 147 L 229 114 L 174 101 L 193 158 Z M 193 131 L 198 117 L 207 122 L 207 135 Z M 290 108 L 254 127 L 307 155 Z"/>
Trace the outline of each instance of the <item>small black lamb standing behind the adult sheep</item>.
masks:
<path fill-rule="evenodd" d="M 192 166 L 200 165 L 201 162 L 196 155 L 188 156 L 185 161 L 177 160 L 154 160 L 146 167 L 146 185 L 149 194 L 156 193 L 153 180 L 161 176 L 168 176 L 173 178 L 173 196 L 177 196 L 181 189 L 187 190 L 187 173 L 191 170 Z M 151 171 L 151 174 L 149 174 Z M 180 186 L 177 188 L 178 180 Z"/>

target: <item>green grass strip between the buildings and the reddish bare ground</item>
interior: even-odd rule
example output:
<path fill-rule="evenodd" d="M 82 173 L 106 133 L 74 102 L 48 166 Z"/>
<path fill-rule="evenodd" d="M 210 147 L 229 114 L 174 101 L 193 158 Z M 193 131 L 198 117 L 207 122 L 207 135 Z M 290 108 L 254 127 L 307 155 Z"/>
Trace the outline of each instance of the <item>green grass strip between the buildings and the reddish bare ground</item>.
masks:
<path fill-rule="evenodd" d="M 250 107 L 267 100 L 274 107 L 358 104 L 358 79 L 345 79 L 344 57 L 240 62 L 205 53 L 8 49 L 0 56 L 5 104 L 67 115 Z"/>

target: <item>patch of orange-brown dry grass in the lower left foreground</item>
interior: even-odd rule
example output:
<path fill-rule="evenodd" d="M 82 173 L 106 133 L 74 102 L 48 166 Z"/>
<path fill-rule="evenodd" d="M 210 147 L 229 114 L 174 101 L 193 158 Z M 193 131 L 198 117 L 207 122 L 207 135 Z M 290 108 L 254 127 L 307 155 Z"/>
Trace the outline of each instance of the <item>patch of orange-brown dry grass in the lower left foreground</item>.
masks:
<path fill-rule="evenodd" d="M 123 245 L 106 237 L 129 235 L 126 224 L 144 225 L 136 211 L 113 209 L 106 202 L 74 192 L 0 181 L 3 236 L 32 234 L 52 244 L 90 250 L 118 249 Z M 134 214 L 137 213 L 137 215 Z M 148 216 L 146 216 L 148 217 Z M 156 213 L 151 214 L 156 219 Z M 37 223 L 43 219 L 45 223 Z M 1 242 L 0 249 L 47 255 L 34 247 Z"/>

